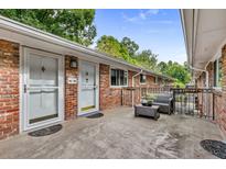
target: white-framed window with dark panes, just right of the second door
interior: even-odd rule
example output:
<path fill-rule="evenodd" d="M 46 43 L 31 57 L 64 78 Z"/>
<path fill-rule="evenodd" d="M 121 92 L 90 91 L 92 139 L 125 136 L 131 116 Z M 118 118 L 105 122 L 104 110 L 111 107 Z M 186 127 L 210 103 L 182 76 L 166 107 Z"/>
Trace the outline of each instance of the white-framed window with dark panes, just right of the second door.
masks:
<path fill-rule="evenodd" d="M 111 69 L 111 86 L 127 86 L 128 72 L 120 69 Z"/>

